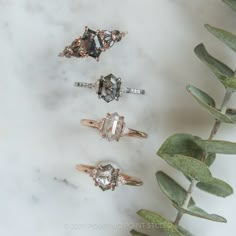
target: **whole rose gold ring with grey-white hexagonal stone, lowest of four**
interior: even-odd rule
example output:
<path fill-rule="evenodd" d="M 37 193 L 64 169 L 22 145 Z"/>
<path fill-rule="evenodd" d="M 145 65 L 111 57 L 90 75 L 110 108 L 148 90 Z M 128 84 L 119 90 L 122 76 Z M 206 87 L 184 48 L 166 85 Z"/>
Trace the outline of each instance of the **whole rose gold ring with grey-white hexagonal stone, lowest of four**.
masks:
<path fill-rule="evenodd" d="M 114 168 L 111 164 L 107 165 L 76 165 L 76 169 L 80 172 L 89 174 L 93 178 L 95 186 L 99 186 L 103 191 L 115 190 L 116 187 L 122 185 L 141 186 L 142 180 L 120 173 L 119 169 Z"/>

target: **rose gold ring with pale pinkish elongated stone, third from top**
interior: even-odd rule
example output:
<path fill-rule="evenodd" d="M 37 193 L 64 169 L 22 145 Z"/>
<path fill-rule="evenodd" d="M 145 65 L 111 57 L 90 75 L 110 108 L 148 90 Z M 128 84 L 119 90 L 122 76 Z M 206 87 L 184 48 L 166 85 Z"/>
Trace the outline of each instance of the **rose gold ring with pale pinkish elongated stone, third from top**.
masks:
<path fill-rule="evenodd" d="M 107 116 L 100 121 L 83 119 L 80 122 L 82 125 L 98 129 L 102 133 L 102 137 L 107 138 L 108 141 L 119 141 L 123 136 L 136 138 L 148 137 L 144 132 L 127 128 L 124 122 L 124 116 L 120 116 L 116 112 L 113 114 L 107 113 Z"/>

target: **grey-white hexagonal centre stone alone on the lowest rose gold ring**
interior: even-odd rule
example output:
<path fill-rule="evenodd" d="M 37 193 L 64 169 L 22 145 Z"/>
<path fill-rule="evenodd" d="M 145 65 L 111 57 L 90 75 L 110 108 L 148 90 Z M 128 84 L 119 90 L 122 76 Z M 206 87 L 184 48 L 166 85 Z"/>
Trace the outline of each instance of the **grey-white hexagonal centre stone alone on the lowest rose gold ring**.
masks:
<path fill-rule="evenodd" d="M 110 164 L 100 166 L 100 168 L 97 169 L 96 175 L 94 176 L 96 184 L 103 191 L 111 189 L 112 186 L 115 186 L 117 178 L 118 173 L 115 172 L 115 169 Z"/>

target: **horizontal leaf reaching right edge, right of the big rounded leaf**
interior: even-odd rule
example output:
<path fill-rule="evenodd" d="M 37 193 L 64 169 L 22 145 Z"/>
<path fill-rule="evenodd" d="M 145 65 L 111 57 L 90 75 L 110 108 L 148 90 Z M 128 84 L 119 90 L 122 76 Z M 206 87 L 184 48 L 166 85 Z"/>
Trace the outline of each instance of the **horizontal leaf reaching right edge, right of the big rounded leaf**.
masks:
<path fill-rule="evenodd" d="M 236 143 L 221 140 L 196 140 L 206 152 L 221 154 L 236 154 Z"/>

